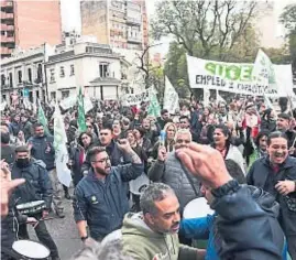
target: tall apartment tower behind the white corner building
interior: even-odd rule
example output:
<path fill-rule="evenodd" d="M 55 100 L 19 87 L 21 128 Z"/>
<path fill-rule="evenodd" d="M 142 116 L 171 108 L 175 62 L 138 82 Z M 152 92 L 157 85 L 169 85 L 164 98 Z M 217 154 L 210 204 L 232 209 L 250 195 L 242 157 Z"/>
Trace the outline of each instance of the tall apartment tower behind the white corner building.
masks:
<path fill-rule="evenodd" d="M 95 35 L 114 48 L 141 51 L 147 45 L 144 0 L 83 0 L 80 11 L 83 35 Z"/>

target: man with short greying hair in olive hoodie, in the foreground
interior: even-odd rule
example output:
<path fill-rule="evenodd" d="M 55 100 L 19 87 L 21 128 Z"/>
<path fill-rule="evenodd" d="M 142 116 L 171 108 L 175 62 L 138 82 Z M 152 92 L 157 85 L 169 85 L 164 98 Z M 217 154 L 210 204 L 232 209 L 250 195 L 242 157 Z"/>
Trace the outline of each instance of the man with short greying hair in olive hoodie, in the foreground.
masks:
<path fill-rule="evenodd" d="M 123 220 L 123 252 L 134 260 L 204 259 L 204 251 L 178 241 L 179 203 L 166 184 L 149 185 L 141 195 L 142 213 L 127 214 Z"/>

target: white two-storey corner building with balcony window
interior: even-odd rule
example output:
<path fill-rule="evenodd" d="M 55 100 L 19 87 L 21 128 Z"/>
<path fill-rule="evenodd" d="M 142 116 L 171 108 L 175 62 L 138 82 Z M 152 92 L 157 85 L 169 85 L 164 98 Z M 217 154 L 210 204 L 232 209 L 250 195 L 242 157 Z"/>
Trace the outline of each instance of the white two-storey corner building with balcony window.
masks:
<path fill-rule="evenodd" d="M 118 99 L 121 93 L 121 56 L 109 45 L 95 42 L 61 44 L 45 64 L 50 100 L 77 95 L 79 87 L 90 98 Z"/>

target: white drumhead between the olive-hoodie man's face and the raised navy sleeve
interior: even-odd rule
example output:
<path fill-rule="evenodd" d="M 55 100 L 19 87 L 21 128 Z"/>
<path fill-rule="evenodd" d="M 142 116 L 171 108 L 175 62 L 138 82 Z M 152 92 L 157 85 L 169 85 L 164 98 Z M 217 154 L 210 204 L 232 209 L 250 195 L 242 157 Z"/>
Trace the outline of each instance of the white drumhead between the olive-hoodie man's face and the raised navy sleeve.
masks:
<path fill-rule="evenodd" d="M 198 197 L 189 202 L 183 213 L 184 218 L 199 218 L 213 214 L 213 210 L 204 197 Z"/>

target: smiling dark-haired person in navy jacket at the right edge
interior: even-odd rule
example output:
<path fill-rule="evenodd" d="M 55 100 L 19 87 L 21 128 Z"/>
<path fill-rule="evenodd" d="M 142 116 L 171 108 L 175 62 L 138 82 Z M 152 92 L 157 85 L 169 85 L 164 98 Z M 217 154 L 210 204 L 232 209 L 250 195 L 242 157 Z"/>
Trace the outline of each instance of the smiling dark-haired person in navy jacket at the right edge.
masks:
<path fill-rule="evenodd" d="M 288 155 L 288 141 L 283 132 L 267 138 L 268 156 L 254 162 L 248 184 L 263 188 L 278 202 L 278 221 L 284 230 L 292 259 L 296 259 L 296 159 Z"/>

